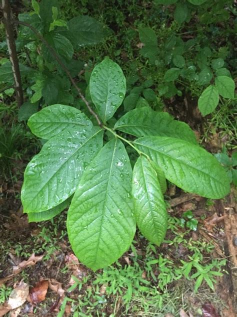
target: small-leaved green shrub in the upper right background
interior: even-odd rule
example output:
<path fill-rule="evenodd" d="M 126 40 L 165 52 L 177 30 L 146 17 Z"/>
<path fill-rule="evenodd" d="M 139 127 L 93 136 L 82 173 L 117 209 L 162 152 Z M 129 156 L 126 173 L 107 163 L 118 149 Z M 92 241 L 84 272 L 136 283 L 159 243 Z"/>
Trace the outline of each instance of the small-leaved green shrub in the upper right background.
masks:
<path fill-rule="evenodd" d="M 162 28 L 138 28 L 142 43 L 140 54 L 147 58 L 155 69 L 149 72 L 149 81 L 157 82 L 157 93 L 166 98 L 191 93 L 192 96 L 198 97 L 198 108 L 203 116 L 213 112 L 222 98 L 234 100 L 235 83 L 225 61 L 228 49 L 221 47 L 217 51 L 205 36 L 195 36 L 187 41 L 183 41 L 180 36 L 185 23 L 190 24 L 190 31 L 184 32 L 183 35 L 201 33 L 204 28 L 208 28 L 209 23 L 224 23 L 229 19 L 226 7 L 232 6 L 231 1 L 220 1 L 217 5 L 214 0 L 156 0 L 155 5 L 159 8 L 161 5 L 174 5 L 174 13 L 170 15 L 173 22 L 169 30 L 165 29 L 165 36 L 162 34 Z M 201 26 L 197 27 L 195 22 L 195 30 L 191 31 L 190 19 L 193 13 L 199 19 L 202 29 Z M 150 88 L 146 90 L 150 100 L 154 100 L 155 92 Z"/>

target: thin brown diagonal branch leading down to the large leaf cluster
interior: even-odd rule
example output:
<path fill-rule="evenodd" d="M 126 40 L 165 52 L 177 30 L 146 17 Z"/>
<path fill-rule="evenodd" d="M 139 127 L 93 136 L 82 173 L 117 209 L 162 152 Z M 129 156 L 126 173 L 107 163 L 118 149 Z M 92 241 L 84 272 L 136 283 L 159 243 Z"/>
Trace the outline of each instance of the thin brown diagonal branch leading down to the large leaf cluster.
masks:
<path fill-rule="evenodd" d="M 15 24 L 19 24 L 19 25 L 23 25 L 27 28 L 29 28 L 30 30 L 33 31 L 33 33 L 37 36 L 37 38 L 48 48 L 48 50 L 50 51 L 50 53 L 52 54 L 52 56 L 55 58 L 55 60 L 57 61 L 57 63 L 61 66 L 61 68 L 64 70 L 64 72 L 66 73 L 67 77 L 69 78 L 71 84 L 75 87 L 78 95 L 80 96 L 80 98 L 83 100 L 83 102 L 85 103 L 86 107 L 88 108 L 89 112 L 95 117 L 96 121 L 98 122 L 98 125 L 100 127 L 102 127 L 102 122 L 99 120 L 97 114 L 92 110 L 92 108 L 90 107 L 88 101 L 85 99 L 85 97 L 82 95 L 80 88 L 76 85 L 74 79 L 71 77 L 70 72 L 68 71 L 68 69 L 66 68 L 66 66 L 63 64 L 63 62 L 60 60 L 59 56 L 57 55 L 56 51 L 48 44 L 48 42 L 41 36 L 41 34 L 34 29 L 30 24 L 25 23 L 25 22 L 21 22 L 18 20 L 14 20 L 13 23 Z"/>

